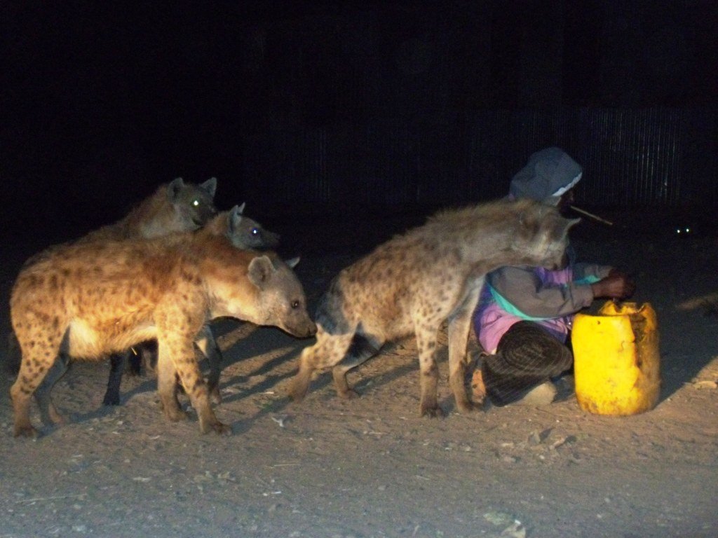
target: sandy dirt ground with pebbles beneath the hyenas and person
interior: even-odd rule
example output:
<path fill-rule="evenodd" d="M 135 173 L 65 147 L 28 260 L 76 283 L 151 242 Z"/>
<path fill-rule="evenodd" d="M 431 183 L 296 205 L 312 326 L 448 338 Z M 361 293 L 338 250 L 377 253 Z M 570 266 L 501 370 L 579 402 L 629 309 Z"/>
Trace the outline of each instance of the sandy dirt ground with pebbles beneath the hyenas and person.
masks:
<path fill-rule="evenodd" d="M 293 246 L 287 254 L 302 255 L 297 273 L 312 311 L 337 270 L 405 225 L 279 230 Z M 222 321 L 216 412 L 230 437 L 200 435 L 196 420 L 165 420 L 149 375 L 126 376 L 122 405 L 103 407 L 103 362 L 75 364 L 55 387 L 72 423 L 14 439 L 14 379 L 3 368 L 0 537 L 717 537 L 718 318 L 676 309 L 718 291 L 717 237 L 584 223 L 574 245 L 582 260 L 633 273 L 635 301 L 658 313 L 663 383 L 654 410 L 591 415 L 564 390 L 546 407 L 461 415 L 444 348 L 447 416 L 420 418 L 411 338 L 350 374 L 362 397 L 335 397 L 324 374 L 292 404 L 286 385 L 312 340 Z M 4 301 L 29 254 L 0 261 Z M 477 354 L 475 341 L 470 349 Z"/>

